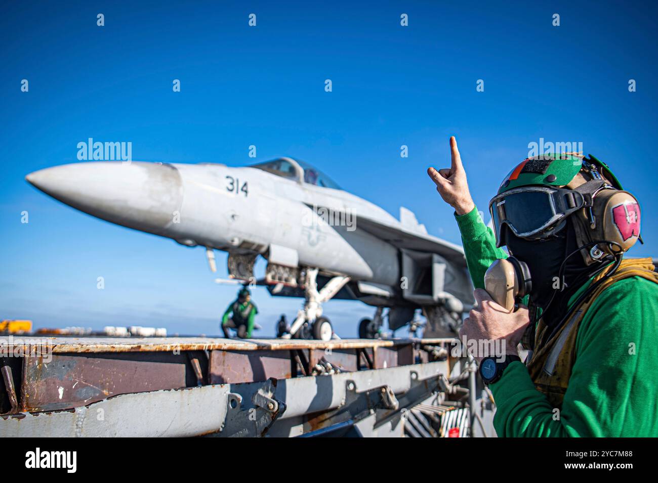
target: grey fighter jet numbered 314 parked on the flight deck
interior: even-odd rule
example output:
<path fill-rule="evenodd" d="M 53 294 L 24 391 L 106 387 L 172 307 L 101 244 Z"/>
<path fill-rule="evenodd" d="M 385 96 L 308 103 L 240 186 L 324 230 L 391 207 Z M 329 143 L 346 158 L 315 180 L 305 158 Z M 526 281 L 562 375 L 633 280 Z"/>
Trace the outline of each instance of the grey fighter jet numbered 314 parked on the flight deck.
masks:
<path fill-rule="evenodd" d="M 272 296 L 305 298 L 284 337 L 334 335 L 322 317 L 332 298 L 376 307 L 359 323 L 359 336 L 380 333 L 384 310 L 390 329 L 410 323 L 417 309 L 424 336 L 447 335 L 473 303 L 460 246 L 427 234 L 415 215 L 382 208 L 343 191 L 312 166 L 278 158 L 240 168 L 224 164 L 82 162 L 27 175 L 38 189 L 91 214 L 185 246 L 228 252 L 228 275 L 255 281 L 266 261 Z"/>

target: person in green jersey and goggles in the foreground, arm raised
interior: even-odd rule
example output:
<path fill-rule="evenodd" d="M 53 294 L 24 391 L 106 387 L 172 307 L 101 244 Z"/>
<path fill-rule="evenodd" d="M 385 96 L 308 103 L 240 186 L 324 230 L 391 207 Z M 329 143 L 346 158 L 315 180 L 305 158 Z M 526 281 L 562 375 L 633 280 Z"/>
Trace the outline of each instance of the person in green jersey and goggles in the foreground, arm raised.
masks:
<path fill-rule="evenodd" d="M 492 231 L 453 137 L 450 146 L 451 167 L 428 174 L 455 209 L 476 287 L 460 336 L 505 343 L 503 361 L 475 354 L 497 434 L 658 436 L 658 277 L 650 259 L 622 259 L 639 239 L 637 200 L 594 156 L 537 156 L 492 198 Z M 507 257 L 503 245 L 528 279 L 515 311 L 483 290 L 486 269 Z"/>

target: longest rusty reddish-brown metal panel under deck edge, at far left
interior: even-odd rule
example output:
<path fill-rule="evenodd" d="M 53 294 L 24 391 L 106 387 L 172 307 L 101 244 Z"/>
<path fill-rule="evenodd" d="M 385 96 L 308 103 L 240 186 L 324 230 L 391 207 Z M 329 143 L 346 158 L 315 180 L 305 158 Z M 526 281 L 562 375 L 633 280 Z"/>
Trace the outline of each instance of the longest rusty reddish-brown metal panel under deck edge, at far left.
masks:
<path fill-rule="evenodd" d="M 159 356 L 159 357 L 157 357 Z M 159 359 L 159 360 L 158 360 Z M 87 405 L 117 394 L 186 386 L 186 364 L 172 354 L 128 359 L 103 354 L 25 357 L 22 411 L 53 411 Z"/>

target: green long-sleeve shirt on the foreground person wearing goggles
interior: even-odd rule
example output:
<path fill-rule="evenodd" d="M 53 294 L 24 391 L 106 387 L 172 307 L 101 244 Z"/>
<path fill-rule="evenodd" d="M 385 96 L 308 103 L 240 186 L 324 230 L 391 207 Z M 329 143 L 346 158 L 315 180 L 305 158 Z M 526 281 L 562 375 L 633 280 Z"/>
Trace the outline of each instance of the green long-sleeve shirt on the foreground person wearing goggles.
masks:
<path fill-rule="evenodd" d="M 476 288 L 507 255 L 476 208 L 455 216 Z M 532 274 L 531 274 L 532 275 Z M 570 298 L 573 303 L 583 287 Z M 559 420 L 523 363 L 490 385 L 499 436 L 658 436 L 658 285 L 630 277 L 606 288 L 580 322 Z"/>

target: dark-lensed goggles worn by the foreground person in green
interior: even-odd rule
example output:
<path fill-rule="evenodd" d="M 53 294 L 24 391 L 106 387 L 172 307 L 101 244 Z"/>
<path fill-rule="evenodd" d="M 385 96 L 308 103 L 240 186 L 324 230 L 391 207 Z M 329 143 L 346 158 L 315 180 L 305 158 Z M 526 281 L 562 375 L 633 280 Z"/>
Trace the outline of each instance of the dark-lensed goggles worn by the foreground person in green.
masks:
<path fill-rule="evenodd" d="M 494 196 L 489 202 L 496 246 L 507 244 L 505 227 L 526 240 L 547 238 L 565 226 L 567 216 L 586 206 L 572 189 L 526 186 Z"/>

